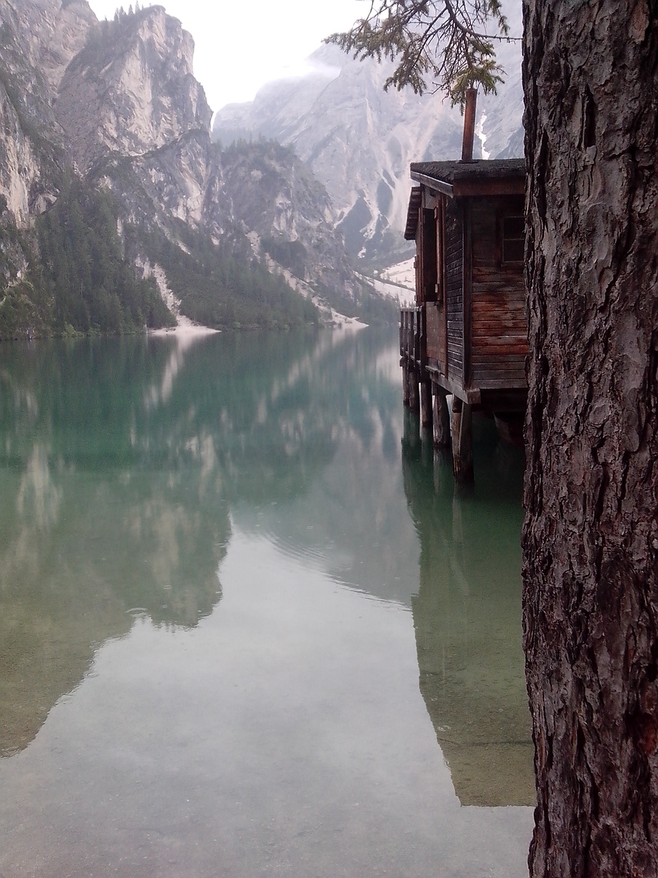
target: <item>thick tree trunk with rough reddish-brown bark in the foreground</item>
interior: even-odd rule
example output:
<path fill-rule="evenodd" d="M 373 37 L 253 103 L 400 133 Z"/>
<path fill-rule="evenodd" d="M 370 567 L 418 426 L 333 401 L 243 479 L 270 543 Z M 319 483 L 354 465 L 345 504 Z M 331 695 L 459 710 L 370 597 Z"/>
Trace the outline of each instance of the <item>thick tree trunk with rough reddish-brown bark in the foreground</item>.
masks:
<path fill-rule="evenodd" d="M 658 4 L 525 0 L 533 876 L 658 874 Z"/>

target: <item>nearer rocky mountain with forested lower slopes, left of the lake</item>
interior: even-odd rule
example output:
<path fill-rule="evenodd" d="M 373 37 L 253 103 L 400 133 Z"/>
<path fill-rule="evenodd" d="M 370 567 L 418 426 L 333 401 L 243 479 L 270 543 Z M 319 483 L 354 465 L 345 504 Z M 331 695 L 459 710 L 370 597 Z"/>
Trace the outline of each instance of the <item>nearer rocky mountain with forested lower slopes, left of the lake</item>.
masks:
<path fill-rule="evenodd" d="M 215 327 L 392 316 L 290 149 L 211 142 L 161 6 L 0 0 L 0 21 L 0 337 L 166 325 L 162 299 Z"/>

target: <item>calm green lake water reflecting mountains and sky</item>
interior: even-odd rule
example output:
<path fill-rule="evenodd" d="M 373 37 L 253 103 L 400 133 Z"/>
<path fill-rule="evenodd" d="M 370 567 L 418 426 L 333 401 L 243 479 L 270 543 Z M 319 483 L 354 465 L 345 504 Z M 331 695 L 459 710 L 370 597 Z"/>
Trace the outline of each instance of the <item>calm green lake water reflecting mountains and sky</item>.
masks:
<path fill-rule="evenodd" d="M 0 345 L 0 874 L 527 874 L 522 454 L 396 334 Z"/>

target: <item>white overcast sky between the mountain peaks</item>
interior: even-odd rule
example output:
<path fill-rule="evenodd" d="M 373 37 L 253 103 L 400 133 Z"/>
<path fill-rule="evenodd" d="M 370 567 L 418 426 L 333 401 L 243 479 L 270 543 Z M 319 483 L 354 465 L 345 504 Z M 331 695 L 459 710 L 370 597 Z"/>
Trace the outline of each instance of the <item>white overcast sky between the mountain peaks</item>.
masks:
<path fill-rule="evenodd" d="M 154 5 L 156 0 L 140 0 Z M 113 18 L 134 0 L 89 0 L 97 18 Z M 194 75 L 213 111 L 250 101 L 264 83 L 294 75 L 323 38 L 368 14 L 368 0 L 164 0 L 194 37 Z"/>

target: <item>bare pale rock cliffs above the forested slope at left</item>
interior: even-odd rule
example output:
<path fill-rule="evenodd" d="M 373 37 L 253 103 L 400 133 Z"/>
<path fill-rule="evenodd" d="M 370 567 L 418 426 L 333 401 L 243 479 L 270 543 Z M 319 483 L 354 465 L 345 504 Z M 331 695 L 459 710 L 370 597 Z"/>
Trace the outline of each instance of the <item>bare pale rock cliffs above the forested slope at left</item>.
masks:
<path fill-rule="evenodd" d="M 211 143 L 193 40 L 162 7 L 99 23 L 85 0 L 0 0 L 0 18 L 0 225 L 27 230 L 74 174 L 111 190 L 120 229 L 142 230 L 131 238 L 139 264 L 155 233 L 190 255 L 182 223 L 223 253 L 228 242 L 241 260 L 283 272 L 307 296 L 354 305 L 369 295 L 324 187 L 290 150 L 223 153 Z M 0 239 L 11 284 L 25 248 L 10 254 Z"/>

